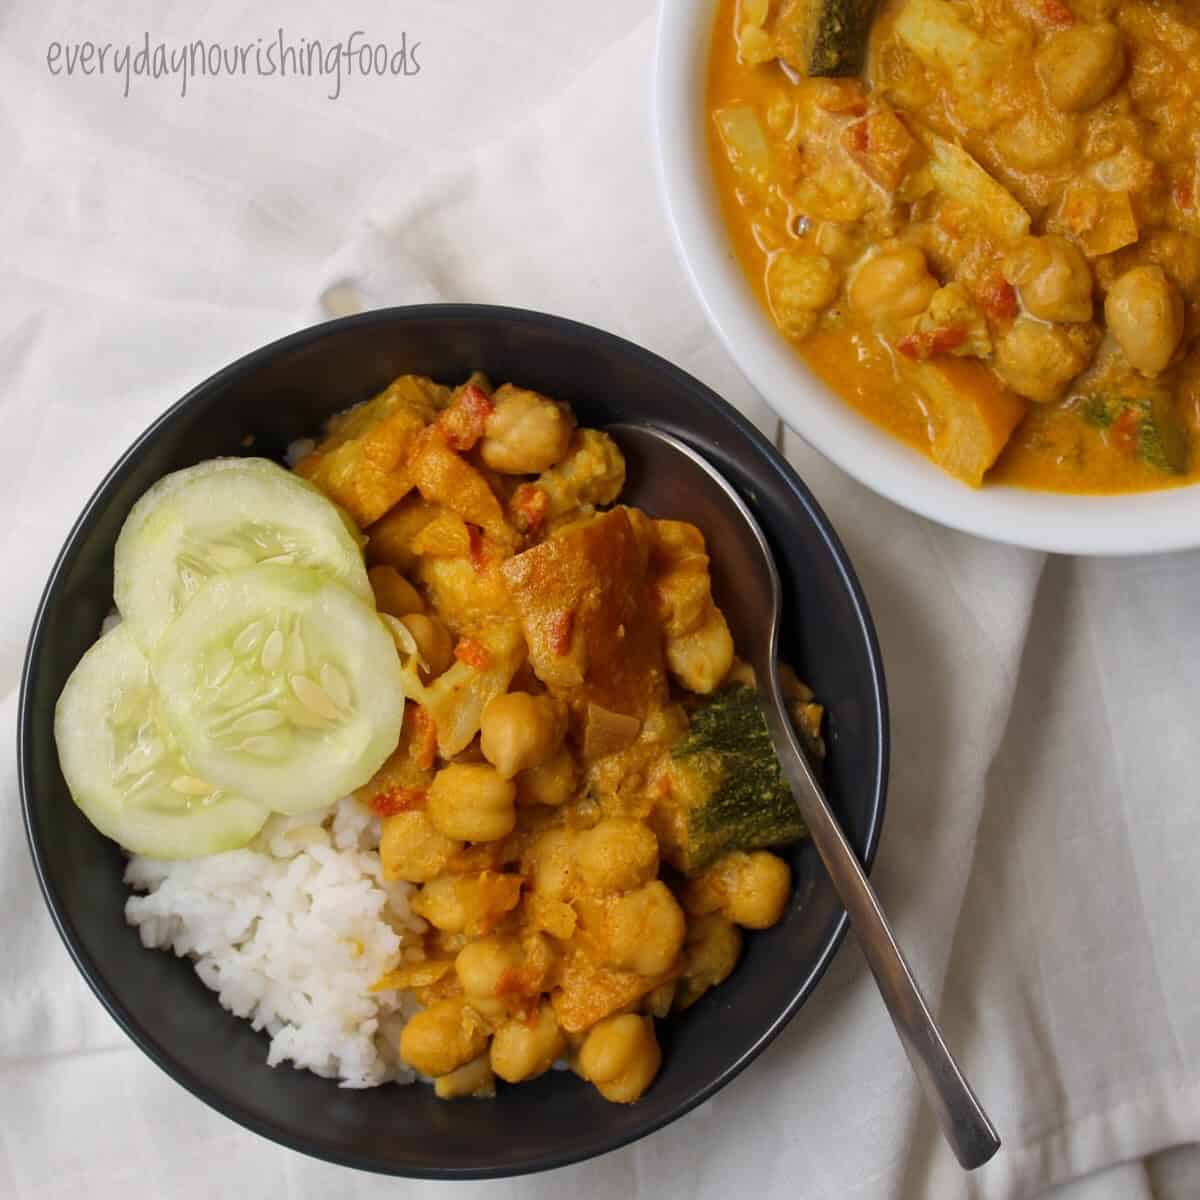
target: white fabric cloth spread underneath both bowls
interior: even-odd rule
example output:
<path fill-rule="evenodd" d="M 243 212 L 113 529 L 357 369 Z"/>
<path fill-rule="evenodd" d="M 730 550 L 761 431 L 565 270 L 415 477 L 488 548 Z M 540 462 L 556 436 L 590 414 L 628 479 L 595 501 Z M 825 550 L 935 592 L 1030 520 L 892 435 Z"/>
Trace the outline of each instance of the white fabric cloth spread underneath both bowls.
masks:
<path fill-rule="evenodd" d="M 52 38 L 420 40 L 420 76 L 52 78 Z M 0 695 L 37 595 L 132 438 L 236 355 L 330 313 L 527 305 L 665 354 L 775 422 L 718 347 L 661 217 L 637 0 L 0 4 Z M 1004 1138 L 958 1171 L 847 943 L 776 1045 L 654 1138 L 520 1182 L 388 1182 L 310 1162 L 150 1066 L 36 892 L 6 742 L 0 1194 L 1015 1198 L 1200 1136 L 1190 778 L 1200 556 L 1049 559 L 882 502 L 794 436 L 871 601 L 894 768 L 876 882 Z M 1154 1171 L 1157 1170 L 1157 1175 Z M 1157 1180 L 1157 1184 L 1153 1182 Z M 1140 1200 L 1174 1157 L 1057 1200 Z M 1158 1195 L 1166 1194 L 1163 1190 Z"/>

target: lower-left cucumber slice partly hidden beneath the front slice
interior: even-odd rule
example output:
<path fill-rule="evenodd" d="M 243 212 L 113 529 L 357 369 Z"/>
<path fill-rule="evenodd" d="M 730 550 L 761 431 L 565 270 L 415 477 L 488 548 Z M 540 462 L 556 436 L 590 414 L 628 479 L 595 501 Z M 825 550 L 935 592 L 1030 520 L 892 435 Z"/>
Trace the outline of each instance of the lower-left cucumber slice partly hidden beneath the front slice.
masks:
<path fill-rule="evenodd" d="M 133 854 L 235 850 L 270 814 L 205 782 L 185 762 L 162 719 L 150 665 L 124 622 L 71 672 L 54 710 L 54 739 L 76 804 Z"/>

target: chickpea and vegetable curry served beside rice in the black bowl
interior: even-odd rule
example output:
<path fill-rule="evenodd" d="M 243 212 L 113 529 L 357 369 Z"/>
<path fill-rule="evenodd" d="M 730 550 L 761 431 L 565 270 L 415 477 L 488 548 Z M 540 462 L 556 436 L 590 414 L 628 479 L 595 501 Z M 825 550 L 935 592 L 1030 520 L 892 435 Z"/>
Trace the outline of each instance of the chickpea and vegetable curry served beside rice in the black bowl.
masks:
<path fill-rule="evenodd" d="M 364 530 L 404 672 L 359 793 L 427 925 L 374 984 L 420 1006 L 400 1057 L 444 1098 L 566 1063 L 637 1099 L 654 1021 L 780 919 L 766 847 L 803 834 L 702 533 L 617 504 L 619 448 L 566 404 L 479 374 L 396 379 L 295 469 Z M 817 760 L 821 707 L 786 678 Z"/>

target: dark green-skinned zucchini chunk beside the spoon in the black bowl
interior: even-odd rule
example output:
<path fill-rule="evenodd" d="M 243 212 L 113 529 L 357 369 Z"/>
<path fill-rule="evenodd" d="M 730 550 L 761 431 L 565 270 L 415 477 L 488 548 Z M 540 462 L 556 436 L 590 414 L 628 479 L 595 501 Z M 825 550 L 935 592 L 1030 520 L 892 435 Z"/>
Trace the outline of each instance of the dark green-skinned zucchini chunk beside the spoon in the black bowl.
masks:
<path fill-rule="evenodd" d="M 671 774 L 686 805 L 674 865 L 689 875 L 731 851 L 780 846 L 806 832 L 746 684 L 724 688 L 695 709 L 688 736 L 671 751 Z"/>

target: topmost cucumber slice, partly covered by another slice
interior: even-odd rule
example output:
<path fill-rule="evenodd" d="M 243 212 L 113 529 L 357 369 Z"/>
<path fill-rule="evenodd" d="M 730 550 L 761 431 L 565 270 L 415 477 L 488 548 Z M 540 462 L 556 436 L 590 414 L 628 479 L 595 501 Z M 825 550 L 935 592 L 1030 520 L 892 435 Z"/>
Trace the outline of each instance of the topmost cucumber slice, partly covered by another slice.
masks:
<path fill-rule="evenodd" d="M 116 539 L 113 592 L 142 648 L 214 575 L 310 566 L 373 604 L 358 534 L 311 484 L 266 458 L 210 458 L 160 479 Z"/>

